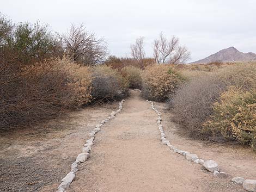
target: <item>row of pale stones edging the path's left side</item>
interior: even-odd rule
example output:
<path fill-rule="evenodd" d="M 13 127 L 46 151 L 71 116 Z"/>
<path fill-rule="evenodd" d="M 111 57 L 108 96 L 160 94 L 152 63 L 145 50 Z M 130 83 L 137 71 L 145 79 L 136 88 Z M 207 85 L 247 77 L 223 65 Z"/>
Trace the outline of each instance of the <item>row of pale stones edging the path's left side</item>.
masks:
<path fill-rule="evenodd" d="M 125 100 L 119 102 L 118 110 L 112 112 L 105 120 L 102 120 L 100 124 L 96 125 L 93 131 L 88 134 L 90 139 L 86 140 L 86 143 L 82 148 L 82 153 L 78 154 L 78 156 L 76 157 L 76 161 L 71 164 L 71 171 L 62 179 L 62 183 L 60 183 L 57 192 L 65 192 L 66 189 L 69 188 L 70 183 L 72 183 L 76 176 L 76 172 L 78 171 L 78 165 L 86 162 L 86 160 L 90 157 L 90 151 L 92 151 L 95 134 L 100 131 L 102 125 L 107 123 L 109 120 L 114 119 L 115 115 L 121 112 L 121 110 L 123 109 L 124 101 Z"/>

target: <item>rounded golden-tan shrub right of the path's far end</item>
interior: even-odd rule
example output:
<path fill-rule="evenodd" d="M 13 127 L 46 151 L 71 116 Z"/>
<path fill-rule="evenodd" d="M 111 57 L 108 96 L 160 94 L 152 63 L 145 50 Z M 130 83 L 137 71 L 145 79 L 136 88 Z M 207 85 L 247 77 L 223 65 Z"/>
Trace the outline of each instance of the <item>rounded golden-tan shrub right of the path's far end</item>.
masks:
<path fill-rule="evenodd" d="M 185 82 L 185 78 L 170 65 L 146 67 L 142 80 L 142 96 L 153 101 L 167 100 Z"/>

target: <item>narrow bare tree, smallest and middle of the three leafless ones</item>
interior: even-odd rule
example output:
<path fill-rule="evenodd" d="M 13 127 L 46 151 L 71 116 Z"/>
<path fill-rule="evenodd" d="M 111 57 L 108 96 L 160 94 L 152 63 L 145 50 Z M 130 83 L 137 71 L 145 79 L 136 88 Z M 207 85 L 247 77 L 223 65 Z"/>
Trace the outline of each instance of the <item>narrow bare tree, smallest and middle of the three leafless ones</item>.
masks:
<path fill-rule="evenodd" d="M 141 68 L 144 69 L 145 51 L 143 37 L 136 39 L 135 44 L 131 45 L 131 55 L 138 61 Z"/>

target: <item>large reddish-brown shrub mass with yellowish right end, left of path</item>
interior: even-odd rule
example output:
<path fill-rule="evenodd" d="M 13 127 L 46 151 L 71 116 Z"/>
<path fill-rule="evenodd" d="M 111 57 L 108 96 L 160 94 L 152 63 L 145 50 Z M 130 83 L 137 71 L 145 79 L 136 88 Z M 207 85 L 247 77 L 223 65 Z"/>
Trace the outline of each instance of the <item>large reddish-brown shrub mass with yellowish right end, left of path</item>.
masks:
<path fill-rule="evenodd" d="M 0 128 L 52 118 L 64 108 L 90 101 L 88 69 L 68 59 L 25 67 L 8 64 L 0 68 Z"/>

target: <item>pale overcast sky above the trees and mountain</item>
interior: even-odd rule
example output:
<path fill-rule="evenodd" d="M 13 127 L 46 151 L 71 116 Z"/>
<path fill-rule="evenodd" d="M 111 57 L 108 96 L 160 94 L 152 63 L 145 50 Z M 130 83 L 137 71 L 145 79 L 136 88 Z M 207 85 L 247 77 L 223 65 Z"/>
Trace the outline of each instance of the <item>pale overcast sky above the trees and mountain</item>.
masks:
<path fill-rule="evenodd" d="M 191 61 L 230 46 L 256 52 L 256 0 L 1 0 L 0 11 L 14 22 L 40 20 L 59 33 L 84 23 L 119 57 L 130 56 L 139 36 L 151 57 L 161 31 L 178 36 Z"/>

